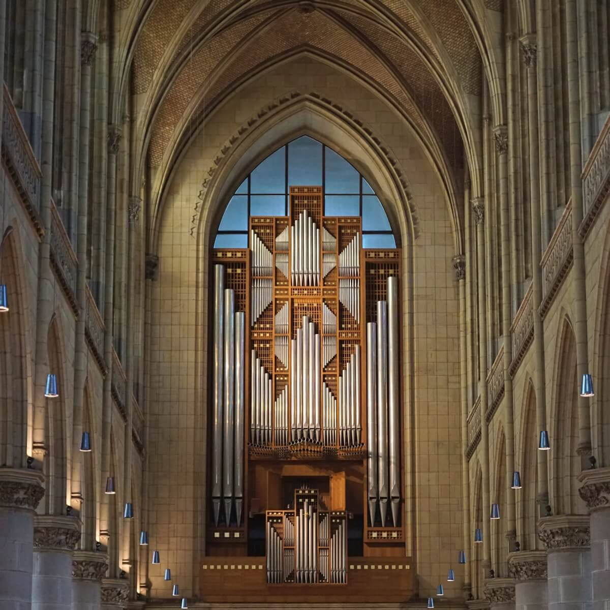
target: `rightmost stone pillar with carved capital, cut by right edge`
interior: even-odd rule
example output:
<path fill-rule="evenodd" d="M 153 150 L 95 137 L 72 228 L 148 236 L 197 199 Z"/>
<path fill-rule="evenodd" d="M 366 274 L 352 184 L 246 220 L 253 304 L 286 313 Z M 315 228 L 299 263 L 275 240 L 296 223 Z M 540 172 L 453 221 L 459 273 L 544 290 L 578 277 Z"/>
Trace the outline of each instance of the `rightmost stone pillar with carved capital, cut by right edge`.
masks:
<path fill-rule="evenodd" d="M 592 610 L 610 608 L 610 468 L 584 470 L 578 492 L 590 512 Z"/>

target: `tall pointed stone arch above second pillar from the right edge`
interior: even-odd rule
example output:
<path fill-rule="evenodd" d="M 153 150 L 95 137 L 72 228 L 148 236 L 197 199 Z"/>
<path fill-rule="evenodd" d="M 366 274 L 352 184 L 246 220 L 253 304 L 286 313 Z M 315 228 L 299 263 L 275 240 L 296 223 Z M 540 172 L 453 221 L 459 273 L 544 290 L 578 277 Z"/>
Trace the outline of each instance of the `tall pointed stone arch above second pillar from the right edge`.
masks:
<path fill-rule="evenodd" d="M 578 456 L 578 374 L 576 372 L 576 337 L 572 323 L 564 314 L 559 324 L 553 395 L 551 397 L 549 434 L 551 442 L 549 477 L 554 514 L 582 512 L 577 476 L 581 471 Z"/>

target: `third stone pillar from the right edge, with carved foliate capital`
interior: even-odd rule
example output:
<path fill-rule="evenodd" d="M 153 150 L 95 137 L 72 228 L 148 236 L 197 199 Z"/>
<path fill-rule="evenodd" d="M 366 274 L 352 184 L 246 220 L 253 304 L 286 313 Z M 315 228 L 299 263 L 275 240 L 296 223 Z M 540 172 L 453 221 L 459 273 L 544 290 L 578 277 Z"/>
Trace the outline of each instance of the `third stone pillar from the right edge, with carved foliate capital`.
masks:
<path fill-rule="evenodd" d="M 547 553 L 509 553 L 508 572 L 515 580 L 515 610 L 547 610 Z"/>

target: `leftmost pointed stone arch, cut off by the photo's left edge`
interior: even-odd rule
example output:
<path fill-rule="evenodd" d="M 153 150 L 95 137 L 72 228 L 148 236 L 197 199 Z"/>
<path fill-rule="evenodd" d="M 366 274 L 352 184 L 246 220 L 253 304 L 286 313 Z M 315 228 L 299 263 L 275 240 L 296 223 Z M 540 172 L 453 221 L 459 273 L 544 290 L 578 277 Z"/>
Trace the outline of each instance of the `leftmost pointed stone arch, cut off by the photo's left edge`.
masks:
<path fill-rule="evenodd" d="M 21 247 L 9 224 L 0 244 L 0 283 L 7 287 L 9 311 L 0 313 L 0 465 L 26 466 L 31 453 L 30 357 L 27 297 Z"/>

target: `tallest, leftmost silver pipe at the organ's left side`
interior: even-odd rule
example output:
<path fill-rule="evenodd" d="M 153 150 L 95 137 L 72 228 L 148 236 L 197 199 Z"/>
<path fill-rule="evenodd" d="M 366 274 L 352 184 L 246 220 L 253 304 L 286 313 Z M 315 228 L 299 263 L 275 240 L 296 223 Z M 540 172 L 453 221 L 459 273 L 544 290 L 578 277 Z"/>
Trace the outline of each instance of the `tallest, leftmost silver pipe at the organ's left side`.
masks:
<path fill-rule="evenodd" d="M 223 470 L 224 266 L 214 267 L 214 387 L 212 416 L 212 505 L 214 523 L 220 519 Z"/>

